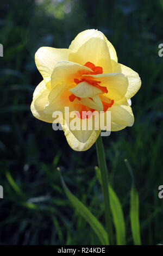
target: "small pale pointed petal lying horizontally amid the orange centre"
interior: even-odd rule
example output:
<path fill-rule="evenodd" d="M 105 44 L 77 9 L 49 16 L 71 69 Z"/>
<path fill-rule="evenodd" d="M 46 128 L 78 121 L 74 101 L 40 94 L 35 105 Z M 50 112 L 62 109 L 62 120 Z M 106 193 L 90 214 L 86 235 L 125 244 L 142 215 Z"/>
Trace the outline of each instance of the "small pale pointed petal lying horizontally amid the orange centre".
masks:
<path fill-rule="evenodd" d="M 89 83 L 81 82 L 76 87 L 70 89 L 70 92 L 76 95 L 77 97 L 93 97 L 97 94 L 102 94 L 102 90 L 92 86 Z"/>

